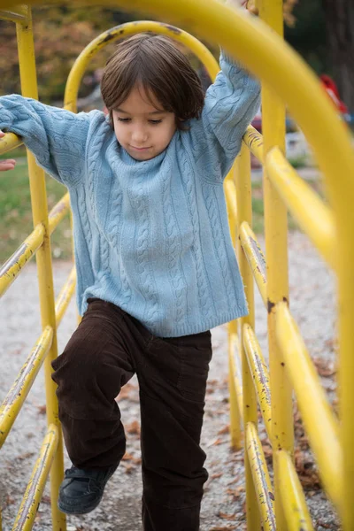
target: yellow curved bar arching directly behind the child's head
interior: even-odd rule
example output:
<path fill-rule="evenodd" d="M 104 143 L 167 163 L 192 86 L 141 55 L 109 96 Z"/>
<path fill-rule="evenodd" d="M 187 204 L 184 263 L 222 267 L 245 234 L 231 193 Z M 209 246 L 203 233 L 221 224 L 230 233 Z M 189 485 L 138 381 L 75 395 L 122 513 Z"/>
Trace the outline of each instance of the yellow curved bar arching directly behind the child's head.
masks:
<path fill-rule="evenodd" d="M 150 20 L 127 22 L 127 24 L 121 24 L 120 26 L 112 27 L 111 29 L 104 31 L 104 33 L 98 35 L 96 39 L 91 41 L 88 46 L 81 51 L 81 54 L 74 62 L 67 78 L 64 96 L 65 109 L 76 112 L 76 99 L 82 76 L 89 65 L 89 61 L 96 55 L 96 53 L 98 53 L 98 51 L 102 50 L 112 42 L 125 39 L 129 35 L 135 35 L 147 31 L 167 35 L 174 41 L 181 42 L 181 44 L 187 46 L 204 64 L 212 80 L 219 72 L 218 62 L 212 56 L 212 53 L 193 35 L 189 35 L 178 27 L 163 24 L 162 22 L 154 22 Z"/>

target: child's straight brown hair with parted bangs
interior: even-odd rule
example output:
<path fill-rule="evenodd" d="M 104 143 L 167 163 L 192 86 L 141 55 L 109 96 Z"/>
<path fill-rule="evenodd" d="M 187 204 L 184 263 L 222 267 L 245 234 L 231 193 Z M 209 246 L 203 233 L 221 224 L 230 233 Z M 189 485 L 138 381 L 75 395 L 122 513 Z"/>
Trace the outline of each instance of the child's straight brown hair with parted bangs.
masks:
<path fill-rule="evenodd" d="M 152 93 L 164 111 L 173 112 L 176 126 L 199 118 L 204 105 L 201 81 L 188 58 L 163 35 L 141 33 L 120 42 L 108 59 L 101 81 L 104 104 L 110 112 L 117 109 L 135 85 L 147 96 Z"/>

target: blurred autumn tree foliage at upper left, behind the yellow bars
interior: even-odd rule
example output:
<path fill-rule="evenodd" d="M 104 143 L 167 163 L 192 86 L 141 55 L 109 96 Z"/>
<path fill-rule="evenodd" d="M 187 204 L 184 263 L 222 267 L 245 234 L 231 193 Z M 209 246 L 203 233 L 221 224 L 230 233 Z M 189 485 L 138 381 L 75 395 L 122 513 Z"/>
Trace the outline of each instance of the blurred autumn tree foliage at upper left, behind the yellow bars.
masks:
<path fill-rule="evenodd" d="M 81 50 L 108 27 L 131 19 L 126 13 L 102 7 L 36 7 L 33 9 L 35 58 L 39 92 L 43 102 L 62 101 L 65 81 Z M 103 50 L 89 66 L 89 73 L 104 65 L 112 48 Z M 0 94 L 19 92 L 16 28 L 0 22 Z M 81 86 L 82 96 L 91 88 Z"/>

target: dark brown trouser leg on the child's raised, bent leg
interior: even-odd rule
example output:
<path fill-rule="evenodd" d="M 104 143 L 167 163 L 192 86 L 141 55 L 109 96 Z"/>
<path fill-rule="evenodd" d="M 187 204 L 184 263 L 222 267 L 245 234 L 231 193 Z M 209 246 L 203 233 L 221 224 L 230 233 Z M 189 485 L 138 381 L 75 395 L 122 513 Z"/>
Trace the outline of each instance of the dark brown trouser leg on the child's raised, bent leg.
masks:
<path fill-rule="evenodd" d="M 73 465 L 118 465 L 126 451 L 115 397 L 135 373 L 121 311 L 95 299 L 61 356 L 53 361 L 59 419 Z"/>

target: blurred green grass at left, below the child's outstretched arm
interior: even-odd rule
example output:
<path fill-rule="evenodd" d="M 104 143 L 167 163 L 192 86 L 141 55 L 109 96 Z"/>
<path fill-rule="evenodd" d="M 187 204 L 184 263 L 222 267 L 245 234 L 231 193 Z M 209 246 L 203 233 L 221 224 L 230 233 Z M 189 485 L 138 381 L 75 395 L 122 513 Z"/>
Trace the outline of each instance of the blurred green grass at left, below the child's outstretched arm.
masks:
<path fill-rule="evenodd" d="M 23 158 L 24 151 L 20 148 L 16 151 L 11 153 L 11 158 L 18 159 L 15 169 L 0 173 L 0 263 L 4 263 L 33 230 L 27 162 Z M 46 177 L 46 184 L 50 210 L 66 189 L 50 177 Z M 51 235 L 53 257 L 71 258 L 71 246 L 70 219 L 66 216 Z"/>

